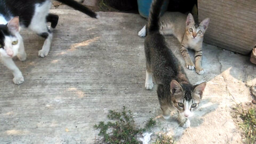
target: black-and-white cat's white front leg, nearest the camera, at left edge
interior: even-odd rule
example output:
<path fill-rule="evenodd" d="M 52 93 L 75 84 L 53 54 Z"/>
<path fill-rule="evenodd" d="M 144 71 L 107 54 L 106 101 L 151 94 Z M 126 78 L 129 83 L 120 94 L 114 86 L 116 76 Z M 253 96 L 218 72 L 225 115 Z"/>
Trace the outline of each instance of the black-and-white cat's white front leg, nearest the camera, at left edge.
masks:
<path fill-rule="evenodd" d="M 19 68 L 15 65 L 12 58 L 1 57 L 1 61 L 4 64 L 4 66 L 6 66 L 12 71 L 12 74 L 14 76 L 12 80 L 14 84 L 21 84 L 24 82 L 22 73 L 19 70 Z"/>

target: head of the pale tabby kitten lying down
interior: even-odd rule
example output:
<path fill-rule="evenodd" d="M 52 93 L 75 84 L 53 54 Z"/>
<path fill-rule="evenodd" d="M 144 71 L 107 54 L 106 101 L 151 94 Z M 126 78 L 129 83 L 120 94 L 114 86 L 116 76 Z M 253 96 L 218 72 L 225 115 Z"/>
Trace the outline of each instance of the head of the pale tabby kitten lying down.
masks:
<path fill-rule="evenodd" d="M 209 22 L 210 18 L 206 18 L 201 23 L 195 23 L 193 15 L 189 13 L 186 20 L 187 37 L 192 39 L 203 38 Z"/>

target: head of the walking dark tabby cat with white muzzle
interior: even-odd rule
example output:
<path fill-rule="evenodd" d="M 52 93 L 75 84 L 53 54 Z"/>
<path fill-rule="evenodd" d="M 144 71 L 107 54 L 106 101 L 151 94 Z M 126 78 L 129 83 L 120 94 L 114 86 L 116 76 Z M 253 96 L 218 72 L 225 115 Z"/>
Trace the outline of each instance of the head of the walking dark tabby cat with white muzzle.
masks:
<path fill-rule="evenodd" d="M 197 109 L 202 97 L 206 83 L 198 85 L 182 84 L 173 80 L 170 84 L 171 100 L 173 106 L 185 117 L 193 116 L 193 111 Z"/>

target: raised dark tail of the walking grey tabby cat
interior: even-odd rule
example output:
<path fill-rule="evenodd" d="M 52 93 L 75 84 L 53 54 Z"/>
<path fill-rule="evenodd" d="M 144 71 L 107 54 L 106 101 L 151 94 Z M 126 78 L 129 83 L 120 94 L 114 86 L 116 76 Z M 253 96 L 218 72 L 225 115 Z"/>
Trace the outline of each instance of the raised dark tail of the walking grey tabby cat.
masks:
<path fill-rule="evenodd" d="M 153 3 L 151 4 L 147 23 L 147 33 L 159 31 L 158 20 L 163 2 L 164 0 L 154 0 Z"/>

